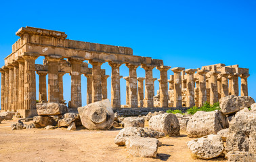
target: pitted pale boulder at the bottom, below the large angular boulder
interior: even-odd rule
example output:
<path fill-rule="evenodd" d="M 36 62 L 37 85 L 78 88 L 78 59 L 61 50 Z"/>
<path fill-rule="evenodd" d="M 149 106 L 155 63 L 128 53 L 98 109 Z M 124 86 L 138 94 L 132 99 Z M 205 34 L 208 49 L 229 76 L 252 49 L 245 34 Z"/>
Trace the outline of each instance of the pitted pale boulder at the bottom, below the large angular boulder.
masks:
<path fill-rule="evenodd" d="M 187 142 L 192 156 L 200 159 L 218 157 L 224 151 L 224 144 L 220 136 L 210 134 Z"/>

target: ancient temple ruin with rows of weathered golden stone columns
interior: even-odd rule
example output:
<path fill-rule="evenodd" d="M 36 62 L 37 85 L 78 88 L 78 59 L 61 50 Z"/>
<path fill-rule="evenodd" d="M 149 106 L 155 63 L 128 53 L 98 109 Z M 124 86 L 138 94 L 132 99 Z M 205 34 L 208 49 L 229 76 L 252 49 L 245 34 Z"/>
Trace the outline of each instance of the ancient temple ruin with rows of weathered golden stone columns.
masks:
<path fill-rule="evenodd" d="M 5 57 L 1 71 L 1 111 L 17 111 L 24 117 L 37 115 L 37 90 L 39 103 L 64 103 L 62 76 L 71 76 L 70 111 L 82 106 L 81 76 L 87 78 L 87 104 L 107 98 L 107 78 L 102 63 L 108 62 L 111 73 L 111 105 L 121 107 L 192 107 L 205 101 L 211 104 L 230 94 L 248 95 L 249 69 L 238 65 L 216 64 L 198 69 L 173 68 L 163 65 L 163 60 L 133 55 L 128 47 L 102 45 L 66 39 L 64 32 L 41 28 L 20 28 L 20 39 Z M 43 64 L 35 64 L 39 57 Z M 92 65 L 88 68 L 87 60 Z M 129 76 L 120 76 L 120 66 L 129 68 Z M 145 70 L 144 78 L 137 78 L 136 69 Z M 154 97 L 152 70 L 160 71 L 159 90 Z M 168 70 L 174 75 L 168 78 Z M 39 84 L 36 84 L 36 74 Z M 46 76 L 48 75 L 48 84 Z M 126 80 L 126 105 L 121 105 L 120 79 Z M 168 84 L 169 82 L 169 84 Z M 169 87 L 169 88 L 168 88 Z M 47 92 L 48 88 L 48 92 Z"/>

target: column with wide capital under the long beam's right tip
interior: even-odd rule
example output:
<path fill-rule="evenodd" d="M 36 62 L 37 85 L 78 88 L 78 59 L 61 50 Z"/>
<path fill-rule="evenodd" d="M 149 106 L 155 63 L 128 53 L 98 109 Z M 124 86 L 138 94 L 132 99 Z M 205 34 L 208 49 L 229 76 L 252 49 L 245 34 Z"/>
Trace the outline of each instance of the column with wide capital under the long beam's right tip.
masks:
<path fill-rule="evenodd" d="M 160 107 L 168 107 L 169 94 L 168 94 L 168 76 L 167 71 L 170 66 L 158 66 L 157 70 L 160 71 L 160 83 L 159 83 L 159 97 L 160 97 Z"/>

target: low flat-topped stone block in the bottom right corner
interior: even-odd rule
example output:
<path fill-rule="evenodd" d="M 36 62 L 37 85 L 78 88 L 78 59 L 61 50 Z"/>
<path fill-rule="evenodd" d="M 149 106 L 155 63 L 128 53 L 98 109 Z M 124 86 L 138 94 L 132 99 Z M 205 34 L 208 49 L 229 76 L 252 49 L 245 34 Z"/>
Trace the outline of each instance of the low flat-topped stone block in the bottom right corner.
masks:
<path fill-rule="evenodd" d="M 229 152 L 228 155 L 228 162 L 236 162 L 236 161 L 243 161 L 243 162 L 256 162 L 256 154 L 249 153 L 249 152 Z"/>

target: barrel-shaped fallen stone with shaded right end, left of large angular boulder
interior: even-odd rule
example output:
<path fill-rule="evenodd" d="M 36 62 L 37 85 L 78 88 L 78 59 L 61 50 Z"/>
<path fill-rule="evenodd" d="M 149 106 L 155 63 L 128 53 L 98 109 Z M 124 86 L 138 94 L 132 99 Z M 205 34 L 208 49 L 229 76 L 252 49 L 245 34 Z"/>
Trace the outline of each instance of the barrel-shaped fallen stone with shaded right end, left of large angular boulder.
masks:
<path fill-rule="evenodd" d="M 148 125 L 153 130 L 163 132 L 165 135 L 179 136 L 179 120 L 173 113 L 154 115 L 148 121 Z"/>

